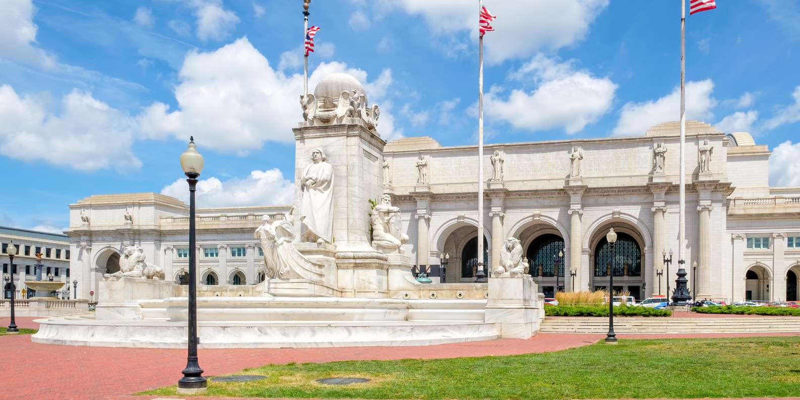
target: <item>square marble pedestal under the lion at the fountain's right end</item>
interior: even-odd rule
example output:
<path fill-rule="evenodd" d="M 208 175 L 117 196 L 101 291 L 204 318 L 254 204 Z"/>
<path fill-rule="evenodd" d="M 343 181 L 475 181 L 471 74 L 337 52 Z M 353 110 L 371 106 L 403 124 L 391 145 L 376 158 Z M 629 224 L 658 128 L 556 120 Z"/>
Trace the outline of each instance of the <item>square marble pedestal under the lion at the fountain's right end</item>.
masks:
<path fill-rule="evenodd" d="M 491 278 L 486 322 L 499 325 L 501 338 L 530 338 L 544 319 L 543 298 L 534 278 L 527 274 L 518 278 Z"/>

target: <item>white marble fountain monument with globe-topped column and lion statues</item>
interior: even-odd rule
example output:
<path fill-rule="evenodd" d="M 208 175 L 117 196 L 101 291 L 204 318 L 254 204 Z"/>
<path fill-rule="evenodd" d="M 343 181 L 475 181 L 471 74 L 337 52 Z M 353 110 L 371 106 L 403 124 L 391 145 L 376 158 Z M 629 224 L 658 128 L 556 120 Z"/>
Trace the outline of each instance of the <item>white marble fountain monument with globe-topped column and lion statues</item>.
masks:
<path fill-rule="evenodd" d="M 294 207 L 254 231 L 267 278 L 244 292 L 198 291 L 200 347 L 406 346 L 536 334 L 542 295 L 515 238 L 504 242 L 488 283 L 414 278 L 399 209 L 383 193 L 380 109 L 367 106 L 358 80 L 330 74 L 301 106 Z M 186 286 L 165 281 L 142 249 L 123 249 L 120 271 L 98 292 L 94 318 L 39 319 L 32 340 L 186 347 Z"/>

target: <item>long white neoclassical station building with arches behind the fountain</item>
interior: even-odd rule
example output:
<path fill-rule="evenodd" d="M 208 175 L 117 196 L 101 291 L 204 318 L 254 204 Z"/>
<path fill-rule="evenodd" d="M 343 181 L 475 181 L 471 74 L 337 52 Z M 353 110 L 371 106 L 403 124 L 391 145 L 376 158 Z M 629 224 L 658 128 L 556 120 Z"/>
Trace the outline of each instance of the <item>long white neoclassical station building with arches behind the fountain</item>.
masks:
<path fill-rule="evenodd" d="M 678 134 L 678 122 L 666 122 L 637 137 L 485 146 L 487 265 L 498 263 L 495 249 L 513 236 L 522 242 L 530 274 L 545 294 L 553 293 L 557 281 L 565 290 L 606 287 L 605 234 L 613 227 L 619 237 L 614 289 L 637 298 L 666 294 L 668 285 L 674 289 Z M 750 134 L 726 135 L 687 122 L 686 154 L 690 290 L 698 298 L 797 299 L 800 188 L 769 186 L 770 151 Z M 402 210 L 410 237 L 405 250 L 434 281 L 474 281 L 477 146 L 402 138 L 387 143 L 382 156 L 370 162 L 382 165 L 384 192 Z M 118 269 L 122 248 L 131 245 L 142 247 L 147 262 L 163 266 L 168 279 L 184 280 L 188 252 L 196 251 L 202 285 L 260 282 L 264 262 L 254 230 L 263 215 L 282 218 L 289 208 L 200 208 L 198 246 L 189 249 L 188 207 L 175 198 L 152 193 L 84 198 L 70 205 L 66 231 L 78 298 L 90 298 L 102 274 Z M 662 253 L 670 250 L 675 258 L 667 273 Z M 440 266 L 444 255 L 449 255 L 446 268 Z"/>

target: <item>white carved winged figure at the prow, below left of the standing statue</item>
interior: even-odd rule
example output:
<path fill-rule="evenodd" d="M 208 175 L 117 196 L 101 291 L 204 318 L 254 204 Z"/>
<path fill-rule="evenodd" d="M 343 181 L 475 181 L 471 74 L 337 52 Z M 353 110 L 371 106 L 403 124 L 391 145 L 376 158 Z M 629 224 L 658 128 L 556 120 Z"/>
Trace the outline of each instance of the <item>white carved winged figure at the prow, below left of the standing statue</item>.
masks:
<path fill-rule="evenodd" d="M 255 230 L 254 236 L 261 242 L 264 250 L 266 276 L 269 278 L 311 278 L 323 268 L 292 246 L 295 238 L 293 213 L 294 206 L 283 214 L 282 219 L 273 222 L 265 215 L 262 218 L 264 223 Z"/>

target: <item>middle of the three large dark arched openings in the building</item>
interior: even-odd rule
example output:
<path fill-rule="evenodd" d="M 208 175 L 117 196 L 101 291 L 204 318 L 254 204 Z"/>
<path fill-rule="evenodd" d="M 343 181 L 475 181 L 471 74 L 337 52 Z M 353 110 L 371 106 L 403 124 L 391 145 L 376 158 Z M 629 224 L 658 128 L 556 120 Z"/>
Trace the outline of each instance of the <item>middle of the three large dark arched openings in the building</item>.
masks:
<path fill-rule="evenodd" d="M 557 290 L 564 290 L 566 283 L 564 278 L 565 253 L 564 239 L 558 234 L 540 234 L 530 242 L 526 249 L 525 254 L 530 265 L 528 273 L 534 277 L 539 291 L 546 298 L 554 297 Z"/>

